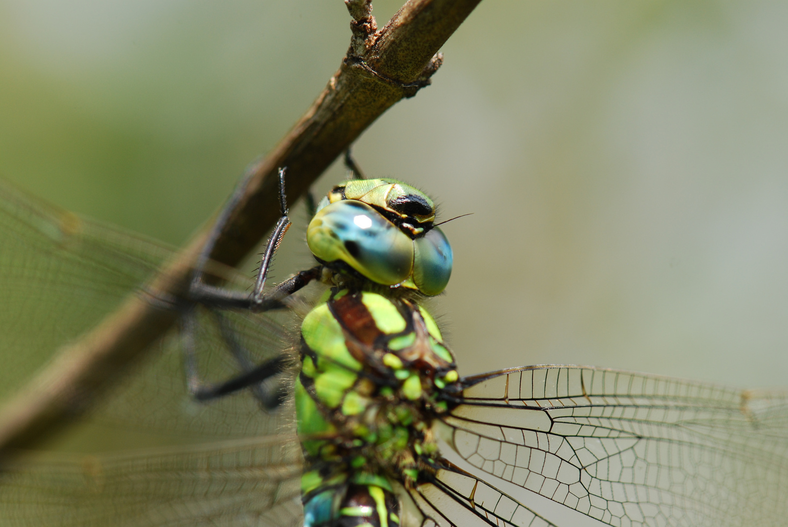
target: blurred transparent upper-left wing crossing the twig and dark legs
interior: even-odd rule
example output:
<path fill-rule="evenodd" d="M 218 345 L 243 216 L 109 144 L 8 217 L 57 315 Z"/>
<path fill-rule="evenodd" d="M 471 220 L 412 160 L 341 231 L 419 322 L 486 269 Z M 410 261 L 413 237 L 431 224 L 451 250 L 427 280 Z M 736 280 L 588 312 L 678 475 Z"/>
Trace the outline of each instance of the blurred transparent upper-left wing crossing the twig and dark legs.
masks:
<path fill-rule="evenodd" d="M 161 243 L 80 218 L 0 181 L 0 398 L 16 392 L 58 348 L 136 294 L 171 255 Z M 248 286 L 247 279 L 232 278 L 234 286 Z M 215 320 L 202 317 L 200 367 L 206 378 L 223 381 L 239 367 Z M 255 362 L 292 345 L 297 323 L 292 311 L 229 319 Z M 173 331 L 106 400 L 96 402 L 91 419 L 206 437 L 280 433 L 292 421 L 292 409 L 264 415 L 247 393 L 193 404 L 184 388 L 179 345 Z"/>

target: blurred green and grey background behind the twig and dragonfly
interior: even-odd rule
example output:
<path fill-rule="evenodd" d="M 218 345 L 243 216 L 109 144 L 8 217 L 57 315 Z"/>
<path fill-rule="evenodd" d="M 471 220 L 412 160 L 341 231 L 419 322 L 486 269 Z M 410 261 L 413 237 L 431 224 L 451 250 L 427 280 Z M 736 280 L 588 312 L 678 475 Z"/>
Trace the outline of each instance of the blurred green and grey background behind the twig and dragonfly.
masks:
<path fill-rule="evenodd" d="M 381 27 L 400 2 L 374 2 Z M 0 0 L 0 174 L 180 245 L 322 90 L 349 20 L 340 0 Z M 444 219 L 474 212 L 445 227 L 433 305 L 463 374 L 786 385 L 786 27 L 785 2 L 481 2 L 355 146 Z M 290 233 L 280 277 L 309 264 Z"/>

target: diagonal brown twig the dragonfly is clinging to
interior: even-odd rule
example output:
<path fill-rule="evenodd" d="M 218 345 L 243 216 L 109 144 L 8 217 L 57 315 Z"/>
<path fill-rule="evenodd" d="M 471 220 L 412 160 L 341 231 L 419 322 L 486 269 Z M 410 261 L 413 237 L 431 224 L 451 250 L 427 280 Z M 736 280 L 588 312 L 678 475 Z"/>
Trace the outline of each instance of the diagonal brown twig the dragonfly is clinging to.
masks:
<path fill-rule="evenodd" d="M 366 127 L 429 84 L 440 46 L 481 0 L 408 0 L 377 30 L 371 0 L 345 0 L 351 46 L 340 69 L 287 135 L 251 169 L 247 186 L 211 257 L 236 265 L 276 221 L 277 168 L 288 168 L 288 201 L 303 194 Z M 162 267 L 153 297 L 184 292 L 205 231 Z M 29 447 L 85 411 L 110 380 L 161 337 L 177 314 L 145 295 L 129 298 L 57 356 L 0 408 L 0 452 Z"/>

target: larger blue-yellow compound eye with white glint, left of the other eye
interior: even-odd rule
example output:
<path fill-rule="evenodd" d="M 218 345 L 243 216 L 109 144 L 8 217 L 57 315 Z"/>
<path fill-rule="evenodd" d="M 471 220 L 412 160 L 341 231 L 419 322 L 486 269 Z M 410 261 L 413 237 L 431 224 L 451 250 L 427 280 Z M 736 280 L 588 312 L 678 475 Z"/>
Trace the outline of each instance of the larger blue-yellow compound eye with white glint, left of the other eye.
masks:
<path fill-rule="evenodd" d="M 413 241 L 370 205 L 336 201 L 307 227 L 310 251 L 326 262 L 341 260 L 366 278 L 393 286 L 411 275 Z"/>

